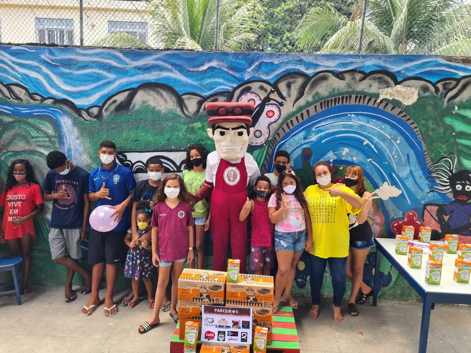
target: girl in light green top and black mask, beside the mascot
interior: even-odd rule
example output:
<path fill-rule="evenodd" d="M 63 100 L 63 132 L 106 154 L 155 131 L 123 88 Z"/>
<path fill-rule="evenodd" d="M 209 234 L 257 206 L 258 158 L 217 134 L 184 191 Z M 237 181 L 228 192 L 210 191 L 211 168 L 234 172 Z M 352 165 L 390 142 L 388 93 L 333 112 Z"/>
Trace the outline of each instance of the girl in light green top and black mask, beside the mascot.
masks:
<path fill-rule="evenodd" d="M 202 144 L 188 146 L 185 167 L 181 177 L 190 193 L 195 194 L 206 179 L 206 158 L 208 151 Z M 196 258 L 197 267 L 204 265 L 204 235 L 211 228 L 210 200 L 202 200 L 195 205 L 193 212 L 194 234 L 196 234 Z M 195 268 L 195 260 L 188 264 L 189 268 Z"/>

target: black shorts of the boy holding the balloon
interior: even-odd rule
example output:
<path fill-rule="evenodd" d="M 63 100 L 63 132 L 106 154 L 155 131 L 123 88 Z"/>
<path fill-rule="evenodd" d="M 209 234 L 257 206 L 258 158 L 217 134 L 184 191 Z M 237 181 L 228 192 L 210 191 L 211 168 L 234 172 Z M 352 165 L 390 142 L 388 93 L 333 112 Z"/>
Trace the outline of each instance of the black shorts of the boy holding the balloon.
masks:
<path fill-rule="evenodd" d="M 127 231 L 98 232 L 90 229 L 88 263 L 106 262 L 109 265 L 122 264 L 126 260 L 127 246 L 124 237 Z"/>

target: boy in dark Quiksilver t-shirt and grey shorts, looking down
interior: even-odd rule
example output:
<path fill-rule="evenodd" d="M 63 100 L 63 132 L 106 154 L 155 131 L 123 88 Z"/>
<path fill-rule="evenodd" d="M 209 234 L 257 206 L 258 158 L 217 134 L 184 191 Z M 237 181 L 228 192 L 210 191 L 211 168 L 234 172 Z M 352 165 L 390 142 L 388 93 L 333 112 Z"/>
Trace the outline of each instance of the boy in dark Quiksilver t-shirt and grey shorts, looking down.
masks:
<path fill-rule="evenodd" d="M 87 236 L 89 223 L 89 173 L 73 165 L 60 151 L 49 152 L 46 162 L 51 170 L 42 185 L 44 200 L 53 201 L 49 246 L 52 261 L 67 268 L 65 302 L 72 303 L 77 299 L 72 289 L 75 272 L 85 279 L 81 293 L 91 292 L 91 273 L 77 262 L 82 257 L 80 243 Z"/>

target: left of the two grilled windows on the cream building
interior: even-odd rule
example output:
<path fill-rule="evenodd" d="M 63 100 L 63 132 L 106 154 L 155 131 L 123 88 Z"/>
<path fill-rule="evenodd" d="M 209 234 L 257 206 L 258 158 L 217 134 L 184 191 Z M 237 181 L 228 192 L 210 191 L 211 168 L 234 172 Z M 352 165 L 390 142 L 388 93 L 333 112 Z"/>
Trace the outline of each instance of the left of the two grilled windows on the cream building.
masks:
<path fill-rule="evenodd" d="M 36 18 L 38 43 L 73 45 L 73 20 L 62 18 Z"/>

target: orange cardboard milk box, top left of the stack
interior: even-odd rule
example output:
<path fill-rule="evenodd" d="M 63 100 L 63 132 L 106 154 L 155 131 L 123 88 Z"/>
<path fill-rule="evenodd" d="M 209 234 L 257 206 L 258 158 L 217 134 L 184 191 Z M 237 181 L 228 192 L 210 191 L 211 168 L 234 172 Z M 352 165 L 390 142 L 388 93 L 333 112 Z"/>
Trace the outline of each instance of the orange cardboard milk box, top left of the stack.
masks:
<path fill-rule="evenodd" d="M 178 300 L 224 305 L 227 274 L 185 268 L 178 280 Z"/>

